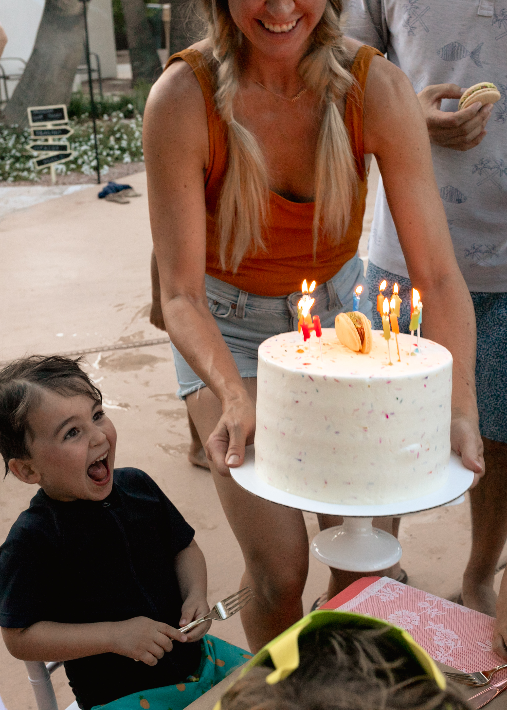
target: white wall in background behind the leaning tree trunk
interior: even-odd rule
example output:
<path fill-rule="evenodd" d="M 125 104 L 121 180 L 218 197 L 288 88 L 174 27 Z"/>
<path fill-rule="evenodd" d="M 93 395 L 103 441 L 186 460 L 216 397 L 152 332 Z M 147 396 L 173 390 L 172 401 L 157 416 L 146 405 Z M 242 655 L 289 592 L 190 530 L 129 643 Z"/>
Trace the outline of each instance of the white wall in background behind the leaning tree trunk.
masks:
<path fill-rule="evenodd" d="M 0 23 L 9 39 L 4 57 L 30 58 L 43 13 L 45 0 L 0 0 Z M 113 8 L 111 0 L 90 0 L 87 3 L 90 51 L 100 58 L 102 76 L 116 78 L 116 46 L 114 44 Z M 0 60 L 6 73 L 18 70 L 19 62 Z M 92 66 L 94 60 L 92 59 Z M 95 77 L 95 75 L 94 75 Z M 86 77 L 82 77 L 85 80 Z M 9 96 L 16 82 L 9 82 Z M 3 87 L 1 87 L 2 99 Z"/>

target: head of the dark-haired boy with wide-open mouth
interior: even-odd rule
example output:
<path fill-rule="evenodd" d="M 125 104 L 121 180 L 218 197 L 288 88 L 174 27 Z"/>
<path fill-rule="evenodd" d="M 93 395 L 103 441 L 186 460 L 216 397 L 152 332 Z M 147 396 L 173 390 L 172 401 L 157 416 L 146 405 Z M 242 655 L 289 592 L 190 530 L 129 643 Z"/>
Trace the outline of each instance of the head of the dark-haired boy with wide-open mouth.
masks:
<path fill-rule="evenodd" d="M 116 430 L 80 359 L 33 355 L 0 371 L 6 474 L 58 501 L 102 501 L 113 484 Z"/>

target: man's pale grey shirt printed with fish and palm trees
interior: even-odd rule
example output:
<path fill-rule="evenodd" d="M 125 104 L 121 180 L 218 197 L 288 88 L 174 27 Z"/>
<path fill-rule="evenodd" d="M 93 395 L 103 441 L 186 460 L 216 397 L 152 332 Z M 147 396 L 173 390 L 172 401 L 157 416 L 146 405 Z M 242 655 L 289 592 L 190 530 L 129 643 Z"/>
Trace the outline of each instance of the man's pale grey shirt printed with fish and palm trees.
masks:
<path fill-rule="evenodd" d="M 431 150 L 469 290 L 507 291 L 507 0 L 349 0 L 347 9 L 345 33 L 387 53 L 416 93 L 430 84 L 467 89 L 479 82 L 493 82 L 501 93 L 479 146 Z M 458 99 L 442 99 L 442 111 L 457 107 Z M 408 277 L 382 180 L 369 258 Z"/>

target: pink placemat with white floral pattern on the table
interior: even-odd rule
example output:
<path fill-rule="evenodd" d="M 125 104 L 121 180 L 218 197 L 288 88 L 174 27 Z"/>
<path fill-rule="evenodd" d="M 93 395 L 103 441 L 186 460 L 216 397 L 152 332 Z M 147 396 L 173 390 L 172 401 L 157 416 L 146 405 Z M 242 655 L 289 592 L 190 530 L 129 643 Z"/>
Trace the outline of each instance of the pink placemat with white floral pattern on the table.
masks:
<path fill-rule="evenodd" d="M 491 650 L 491 616 L 389 577 L 376 579 L 349 601 L 332 608 L 376 616 L 404 628 L 432 658 L 464 672 L 489 670 L 503 661 Z M 507 670 L 498 672 L 494 682 L 503 678 L 507 678 Z"/>

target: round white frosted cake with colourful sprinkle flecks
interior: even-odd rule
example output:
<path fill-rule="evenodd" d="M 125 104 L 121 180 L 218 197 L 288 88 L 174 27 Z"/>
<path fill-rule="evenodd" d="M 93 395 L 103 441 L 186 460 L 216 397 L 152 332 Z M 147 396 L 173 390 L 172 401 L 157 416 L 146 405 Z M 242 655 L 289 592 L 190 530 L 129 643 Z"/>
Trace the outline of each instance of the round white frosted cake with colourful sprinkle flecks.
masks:
<path fill-rule="evenodd" d="M 255 469 L 276 488 L 329 503 L 374 505 L 418 498 L 447 480 L 452 355 L 410 335 L 369 354 L 332 328 L 319 342 L 282 333 L 258 349 Z M 412 339 L 415 342 L 415 338 Z"/>

